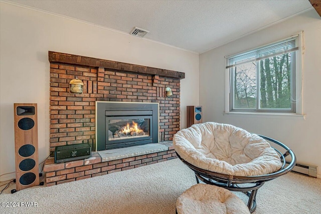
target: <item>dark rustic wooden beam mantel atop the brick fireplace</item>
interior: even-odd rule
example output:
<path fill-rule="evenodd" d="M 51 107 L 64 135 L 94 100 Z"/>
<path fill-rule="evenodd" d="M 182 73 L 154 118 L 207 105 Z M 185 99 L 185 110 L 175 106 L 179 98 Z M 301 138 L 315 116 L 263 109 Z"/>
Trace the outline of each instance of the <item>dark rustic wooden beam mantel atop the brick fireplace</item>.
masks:
<path fill-rule="evenodd" d="M 91 57 L 83 57 L 72 54 L 64 54 L 59 52 L 49 51 L 50 63 L 64 63 L 69 65 L 81 65 L 94 68 L 105 68 L 120 72 L 130 72 L 138 74 L 159 75 L 163 77 L 171 77 L 175 79 L 184 79 L 185 73 L 178 71 L 171 71 L 160 68 L 152 68 L 141 65 L 134 65 L 129 63 L 115 62 L 110 60 L 101 60 Z"/>

